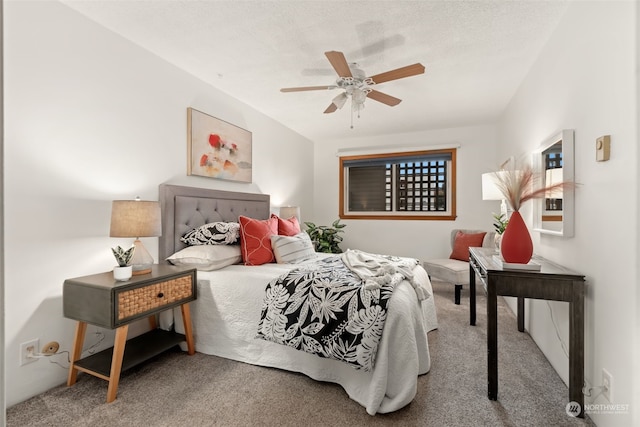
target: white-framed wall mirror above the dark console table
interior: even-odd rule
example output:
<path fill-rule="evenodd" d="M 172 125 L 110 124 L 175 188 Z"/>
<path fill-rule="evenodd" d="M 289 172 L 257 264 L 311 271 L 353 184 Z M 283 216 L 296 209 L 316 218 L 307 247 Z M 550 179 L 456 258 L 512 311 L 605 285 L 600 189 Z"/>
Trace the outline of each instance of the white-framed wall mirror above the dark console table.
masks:
<path fill-rule="evenodd" d="M 545 187 L 574 180 L 573 130 L 547 139 L 533 154 L 533 166 Z M 574 190 L 565 188 L 534 200 L 533 229 L 562 237 L 573 236 Z"/>

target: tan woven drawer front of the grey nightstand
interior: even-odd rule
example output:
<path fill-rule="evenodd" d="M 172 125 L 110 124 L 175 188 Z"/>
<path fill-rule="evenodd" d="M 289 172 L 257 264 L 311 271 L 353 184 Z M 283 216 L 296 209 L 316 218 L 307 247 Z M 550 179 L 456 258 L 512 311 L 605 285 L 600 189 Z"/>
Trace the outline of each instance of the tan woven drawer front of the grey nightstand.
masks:
<path fill-rule="evenodd" d="M 118 320 L 187 299 L 192 293 L 191 276 L 122 292 L 118 294 Z"/>

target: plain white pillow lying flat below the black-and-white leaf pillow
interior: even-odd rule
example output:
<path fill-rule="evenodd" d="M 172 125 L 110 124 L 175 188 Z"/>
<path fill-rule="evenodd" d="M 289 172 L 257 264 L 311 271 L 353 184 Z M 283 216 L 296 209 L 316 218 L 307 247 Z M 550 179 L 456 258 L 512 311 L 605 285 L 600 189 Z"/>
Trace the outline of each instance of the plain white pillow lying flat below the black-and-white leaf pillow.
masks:
<path fill-rule="evenodd" d="M 219 270 L 242 261 L 240 245 L 188 246 L 167 258 L 173 265 L 195 267 L 201 271 Z"/>

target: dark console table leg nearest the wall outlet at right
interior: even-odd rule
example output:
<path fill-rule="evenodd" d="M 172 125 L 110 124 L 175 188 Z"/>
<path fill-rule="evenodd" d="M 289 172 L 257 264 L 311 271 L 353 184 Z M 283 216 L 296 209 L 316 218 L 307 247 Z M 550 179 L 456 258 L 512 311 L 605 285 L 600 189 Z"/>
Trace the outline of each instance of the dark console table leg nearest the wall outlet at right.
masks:
<path fill-rule="evenodd" d="M 573 282 L 569 304 L 569 400 L 580 405 L 584 418 L 584 283 Z"/>

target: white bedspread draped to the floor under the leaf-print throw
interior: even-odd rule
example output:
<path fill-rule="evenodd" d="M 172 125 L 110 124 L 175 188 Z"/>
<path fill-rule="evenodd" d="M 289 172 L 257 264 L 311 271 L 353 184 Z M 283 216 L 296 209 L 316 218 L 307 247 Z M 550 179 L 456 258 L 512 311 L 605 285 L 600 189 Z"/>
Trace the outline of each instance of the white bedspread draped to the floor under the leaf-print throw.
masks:
<path fill-rule="evenodd" d="M 396 411 L 410 403 L 416 395 L 418 375 L 431 367 L 427 332 L 438 326 L 425 270 L 416 266 L 413 278 L 428 290 L 428 297 L 419 301 L 406 280 L 396 287 L 375 367 L 364 372 L 255 338 L 267 283 L 295 267 L 232 265 L 218 271 L 198 271 L 198 299 L 191 303 L 196 351 L 340 384 L 370 415 Z M 176 330 L 184 332 L 180 310 L 174 313 Z"/>

